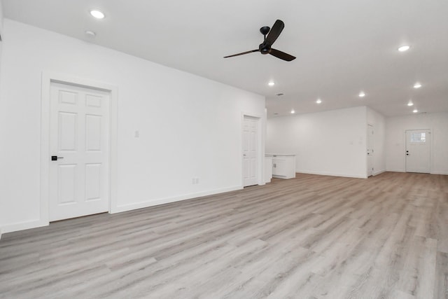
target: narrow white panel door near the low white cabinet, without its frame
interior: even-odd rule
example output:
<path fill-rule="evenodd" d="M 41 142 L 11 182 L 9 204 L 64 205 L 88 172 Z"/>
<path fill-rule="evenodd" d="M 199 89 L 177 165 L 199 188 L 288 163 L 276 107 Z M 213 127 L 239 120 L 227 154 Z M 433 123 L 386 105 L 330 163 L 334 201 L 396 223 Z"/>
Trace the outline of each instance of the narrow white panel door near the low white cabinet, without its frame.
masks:
<path fill-rule="evenodd" d="M 258 118 L 244 116 L 243 186 L 258 184 Z"/>

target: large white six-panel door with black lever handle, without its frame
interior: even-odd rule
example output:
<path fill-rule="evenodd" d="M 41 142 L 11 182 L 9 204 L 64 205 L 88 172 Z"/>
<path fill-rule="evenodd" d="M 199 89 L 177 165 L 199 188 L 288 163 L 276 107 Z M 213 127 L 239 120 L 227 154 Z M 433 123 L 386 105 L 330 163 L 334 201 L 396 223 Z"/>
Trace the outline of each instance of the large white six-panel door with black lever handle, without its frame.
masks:
<path fill-rule="evenodd" d="M 50 85 L 49 218 L 109 211 L 109 92 Z"/>

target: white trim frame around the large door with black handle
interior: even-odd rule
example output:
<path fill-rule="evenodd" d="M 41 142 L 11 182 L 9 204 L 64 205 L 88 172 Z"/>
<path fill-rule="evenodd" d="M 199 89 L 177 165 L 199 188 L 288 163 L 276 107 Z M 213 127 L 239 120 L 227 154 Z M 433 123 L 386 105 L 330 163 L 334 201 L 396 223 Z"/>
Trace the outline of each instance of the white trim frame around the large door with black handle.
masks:
<path fill-rule="evenodd" d="M 50 85 L 62 83 L 82 88 L 109 92 L 109 213 L 113 213 L 117 206 L 117 140 L 118 140 L 118 88 L 113 85 L 78 78 L 68 74 L 43 71 L 41 82 L 41 207 L 40 224 L 48 225 L 50 194 Z"/>

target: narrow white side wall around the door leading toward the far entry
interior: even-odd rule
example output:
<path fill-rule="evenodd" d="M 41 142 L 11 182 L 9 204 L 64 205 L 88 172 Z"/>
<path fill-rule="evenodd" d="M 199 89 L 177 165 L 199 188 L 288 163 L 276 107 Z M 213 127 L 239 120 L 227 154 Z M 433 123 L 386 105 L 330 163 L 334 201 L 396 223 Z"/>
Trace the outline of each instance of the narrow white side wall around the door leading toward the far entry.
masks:
<path fill-rule="evenodd" d="M 386 118 L 367 107 L 367 125 L 374 127 L 373 175 L 386 171 Z"/>

